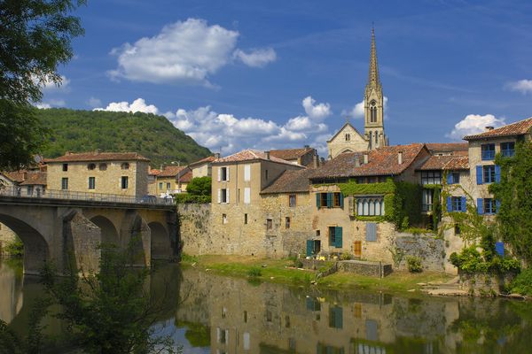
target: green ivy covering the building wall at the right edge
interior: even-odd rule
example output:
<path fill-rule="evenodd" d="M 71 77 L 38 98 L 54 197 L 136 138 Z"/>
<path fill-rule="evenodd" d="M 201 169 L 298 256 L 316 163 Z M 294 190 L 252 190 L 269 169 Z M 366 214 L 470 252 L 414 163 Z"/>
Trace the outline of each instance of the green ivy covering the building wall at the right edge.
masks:
<path fill-rule="evenodd" d="M 489 186 L 500 201 L 497 222 L 505 242 L 517 256 L 532 263 L 532 142 L 518 142 L 515 155 L 505 158 L 497 154 L 501 181 Z"/>

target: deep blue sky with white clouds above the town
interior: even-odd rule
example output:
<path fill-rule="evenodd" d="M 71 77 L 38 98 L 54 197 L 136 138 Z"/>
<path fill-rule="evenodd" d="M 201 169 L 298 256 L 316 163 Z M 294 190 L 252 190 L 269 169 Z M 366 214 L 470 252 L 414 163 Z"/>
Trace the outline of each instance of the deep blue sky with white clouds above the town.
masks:
<path fill-rule="evenodd" d="M 347 119 L 364 132 L 374 26 L 391 144 L 532 116 L 528 0 L 88 3 L 41 108 L 164 115 L 223 155 L 311 145 L 326 157 Z"/>

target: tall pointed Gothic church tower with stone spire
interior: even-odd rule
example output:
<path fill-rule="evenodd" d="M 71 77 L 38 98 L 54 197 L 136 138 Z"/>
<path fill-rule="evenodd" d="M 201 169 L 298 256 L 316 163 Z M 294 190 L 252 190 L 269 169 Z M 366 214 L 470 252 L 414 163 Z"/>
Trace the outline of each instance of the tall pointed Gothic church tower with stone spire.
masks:
<path fill-rule="evenodd" d="M 364 137 L 368 141 L 368 150 L 387 146 L 384 134 L 384 96 L 379 79 L 375 30 L 372 28 L 372 50 L 370 54 L 370 75 L 364 95 Z"/>

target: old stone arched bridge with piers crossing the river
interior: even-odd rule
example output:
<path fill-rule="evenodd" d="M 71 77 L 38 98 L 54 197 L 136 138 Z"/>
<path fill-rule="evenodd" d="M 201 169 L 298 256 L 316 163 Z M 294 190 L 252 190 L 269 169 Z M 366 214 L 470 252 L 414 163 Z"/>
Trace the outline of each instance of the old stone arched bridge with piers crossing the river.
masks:
<path fill-rule="evenodd" d="M 51 260 L 59 272 L 74 260 L 98 270 L 100 243 L 133 250 L 132 266 L 178 256 L 176 206 L 44 197 L 0 196 L 0 223 L 24 243 L 24 273 L 36 274 Z"/>

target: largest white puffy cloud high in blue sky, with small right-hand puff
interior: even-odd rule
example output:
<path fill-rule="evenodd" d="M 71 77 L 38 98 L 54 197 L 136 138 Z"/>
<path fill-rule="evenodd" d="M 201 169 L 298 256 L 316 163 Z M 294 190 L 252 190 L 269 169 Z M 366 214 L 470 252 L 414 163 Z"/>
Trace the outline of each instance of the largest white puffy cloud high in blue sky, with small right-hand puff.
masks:
<path fill-rule="evenodd" d="M 236 50 L 239 32 L 204 19 L 167 25 L 159 35 L 124 43 L 111 51 L 118 67 L 112 79 L 153 83 L 200 83 L 211 86 L 209 75 L 231 62 L 231 53 L 246 65 L 262 67 L 275 60 L 274 50 Z"/>

